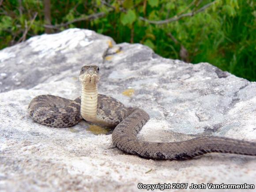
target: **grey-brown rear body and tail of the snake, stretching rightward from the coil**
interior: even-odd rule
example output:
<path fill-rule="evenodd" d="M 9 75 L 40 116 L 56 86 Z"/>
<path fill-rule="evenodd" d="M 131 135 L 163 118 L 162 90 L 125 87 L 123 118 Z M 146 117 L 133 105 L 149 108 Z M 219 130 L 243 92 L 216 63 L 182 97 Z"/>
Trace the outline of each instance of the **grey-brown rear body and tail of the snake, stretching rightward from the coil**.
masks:
<path fill-rule="evenodd" d="M 147 120 L 149 120 L 149 116 L 145 111 L 134 109 L 114 129 L 113 144 L 126 153 L 153 159 L 185 160 L 212 152 L 256 155 L 256 142 L 225 137 L 205 136 L 173 143 L 139 141 L 137 134 Z"/>

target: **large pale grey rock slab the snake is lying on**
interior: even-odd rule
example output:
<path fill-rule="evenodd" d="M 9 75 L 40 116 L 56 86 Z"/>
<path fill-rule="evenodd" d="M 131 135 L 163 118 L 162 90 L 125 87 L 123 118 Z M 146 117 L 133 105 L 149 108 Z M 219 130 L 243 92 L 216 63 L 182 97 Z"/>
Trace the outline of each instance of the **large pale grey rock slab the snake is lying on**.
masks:
<path fill-rule="evenodd" d="M 69 29 L 0 51 L 0 191 L 256 184 L 256 157 L 212 153 L 189 161 L 148 160 L 108 149 L 111 135 L 97 134 L 108 131 L 85 121 L 72 128 L 33 122 L 27 113 L 31 99 L 40 94 L 76 98 L 77 77 L 87 64 L 100 67 L 100 93 L 150 114 L 139 139 L 172 142 L 212 135 L 256 141 L 255 82 L 211 64 L 165 59 L 140 44 L 115 45 L 94 31 Z"/>

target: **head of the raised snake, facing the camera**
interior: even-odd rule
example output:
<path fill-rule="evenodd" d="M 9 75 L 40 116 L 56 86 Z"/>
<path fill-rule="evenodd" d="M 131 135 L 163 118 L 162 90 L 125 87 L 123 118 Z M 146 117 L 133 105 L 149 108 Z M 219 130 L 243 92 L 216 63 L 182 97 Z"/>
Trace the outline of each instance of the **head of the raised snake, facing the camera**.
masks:
<path fill-rule="evenodd" d="M 79 75 L 79 81 L 84 84 L 97 84 L 100 80 L 99 70 L 96 65 L 83 66 Z"/>

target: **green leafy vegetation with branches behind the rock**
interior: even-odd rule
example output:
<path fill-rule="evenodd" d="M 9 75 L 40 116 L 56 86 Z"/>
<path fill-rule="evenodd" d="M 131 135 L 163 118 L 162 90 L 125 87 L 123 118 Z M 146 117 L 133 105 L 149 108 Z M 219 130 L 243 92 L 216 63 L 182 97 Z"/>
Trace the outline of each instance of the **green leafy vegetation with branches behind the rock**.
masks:
<path fill-rule="evenodd" d="M 0 49 L 79 27 L 256 81 L 255 7 L 254 0 L 0 0 Z"/>

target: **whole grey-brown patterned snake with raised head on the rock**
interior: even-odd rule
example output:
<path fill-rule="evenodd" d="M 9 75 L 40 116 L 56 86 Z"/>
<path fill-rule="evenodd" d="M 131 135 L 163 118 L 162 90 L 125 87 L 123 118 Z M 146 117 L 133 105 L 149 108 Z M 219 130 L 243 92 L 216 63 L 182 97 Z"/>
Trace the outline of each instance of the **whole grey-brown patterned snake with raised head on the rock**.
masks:
<path fill-rule="evenodd" d="M 137 134 L 149 120 L 148 113 L 98 94 L 99 80 L 98 66 L 83 66 L 79 75 L 80 97 L 70 100 L 49 94 L 39 95 L 28 106 L 30 116 L 40 124 L 57 128 L 71 127 L 81 120 L 114 128 L 113 147 L 142 158 L 186 160 L 212 152 L 256 156 L 256 142 L 227 137 L 200 136 L 171 143 L 139 140 Z"/>

